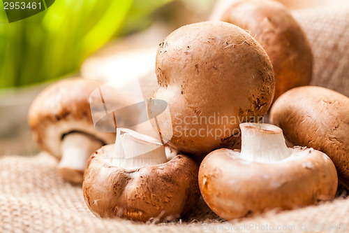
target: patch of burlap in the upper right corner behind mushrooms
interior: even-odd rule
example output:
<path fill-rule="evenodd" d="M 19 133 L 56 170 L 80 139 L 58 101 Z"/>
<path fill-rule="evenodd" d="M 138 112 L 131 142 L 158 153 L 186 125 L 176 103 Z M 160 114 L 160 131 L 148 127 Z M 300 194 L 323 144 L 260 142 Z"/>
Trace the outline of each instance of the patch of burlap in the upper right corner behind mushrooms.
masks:
<path fill-rule="evenodd" d="M 349 97 L 349 1 L 293 12 L 313 52 L 311 85 Z"/>

